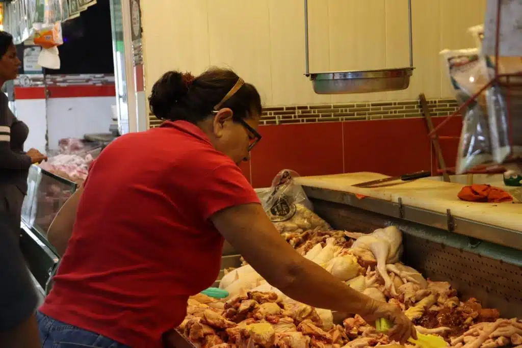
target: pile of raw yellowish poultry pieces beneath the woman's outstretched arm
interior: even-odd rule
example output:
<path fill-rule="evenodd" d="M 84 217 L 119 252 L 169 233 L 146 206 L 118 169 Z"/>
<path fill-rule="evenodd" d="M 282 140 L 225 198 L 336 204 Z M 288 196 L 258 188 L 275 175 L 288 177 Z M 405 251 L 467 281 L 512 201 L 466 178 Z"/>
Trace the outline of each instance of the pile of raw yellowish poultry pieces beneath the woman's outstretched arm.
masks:
<path fill-rule="evenodd" d="M 461 302 L 449 283 L 426 280 L 400 263 L 402 234 L 396 227 L 370 234 L 334 231 L 312 211 L 298 208 L 305 214 L 276 223 L 286 241 L 353 289 L 401 308 L 418 332 L 440 335 L 456 348 L 522 348 L 521 320 L 502 319 L 474 298 Z M 197 347 L 401 346 L 358 315 L 293 301 L 250 265 L 230 270 L 220 287 L 228 298 L 198 294 L 188 301 L 178 330 Z"/>

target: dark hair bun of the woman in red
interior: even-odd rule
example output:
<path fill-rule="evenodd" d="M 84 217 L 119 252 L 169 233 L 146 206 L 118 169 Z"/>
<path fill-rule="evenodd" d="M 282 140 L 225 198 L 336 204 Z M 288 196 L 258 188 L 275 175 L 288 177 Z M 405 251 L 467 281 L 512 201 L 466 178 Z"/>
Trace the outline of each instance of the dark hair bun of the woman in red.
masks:
<path fill-rule="evenodd" d="M 175 105 L 183 102 L 188 87 L 179 71 L 168 71 L 154 83 L 149 96 L 150 111 L 160 119 L 172 119 Z"/>

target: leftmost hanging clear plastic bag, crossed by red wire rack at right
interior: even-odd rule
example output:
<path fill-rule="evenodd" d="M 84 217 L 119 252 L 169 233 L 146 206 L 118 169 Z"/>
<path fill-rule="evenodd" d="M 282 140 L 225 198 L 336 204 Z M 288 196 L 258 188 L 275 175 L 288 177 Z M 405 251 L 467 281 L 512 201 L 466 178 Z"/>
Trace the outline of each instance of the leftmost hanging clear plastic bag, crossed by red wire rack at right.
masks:
<path fill-rule="evenodd" d="M 444 50 L 440 54 L 455 90 L 455 99 L 460 105 L 488 83 L 485 62 L 478 49 Z M 455 168 L 457 174 L 493 161 L 488 115 L 483 105 L 483 97 L 479 96 L 464 111 Z"/>

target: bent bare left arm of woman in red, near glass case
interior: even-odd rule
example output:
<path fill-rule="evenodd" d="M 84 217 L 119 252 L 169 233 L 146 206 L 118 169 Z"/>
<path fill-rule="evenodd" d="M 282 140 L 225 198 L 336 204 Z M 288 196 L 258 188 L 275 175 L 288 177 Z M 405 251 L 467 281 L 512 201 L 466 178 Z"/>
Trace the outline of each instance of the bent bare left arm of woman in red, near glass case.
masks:
<path fill-rule="evenodd" d="M 74 221 L 76 219 L 76 210 L 80 201 L 81 193 L 84 186 L 81 185 L 75 193 L 67 199 L 65 204 L 54 217 L 49 230 L 47 231 L 47 239 L 52 246 L 58 251 L 58 255 L 63 256 L 70 236 L 73 234 Z"/>

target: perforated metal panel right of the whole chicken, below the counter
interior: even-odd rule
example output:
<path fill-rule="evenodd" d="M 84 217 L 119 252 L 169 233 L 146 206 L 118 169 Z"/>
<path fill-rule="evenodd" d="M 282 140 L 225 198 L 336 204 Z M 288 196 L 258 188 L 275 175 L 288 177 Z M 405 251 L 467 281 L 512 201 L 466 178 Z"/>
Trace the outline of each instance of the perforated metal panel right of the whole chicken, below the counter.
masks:
<path fill-rule="evenodd" d="M 465 298 L 475 297 L 504 317 L 522 314 L 522 269 L 416 236 L 404 236 L 404 261 L 425 277 L 450 282 Z"/>

